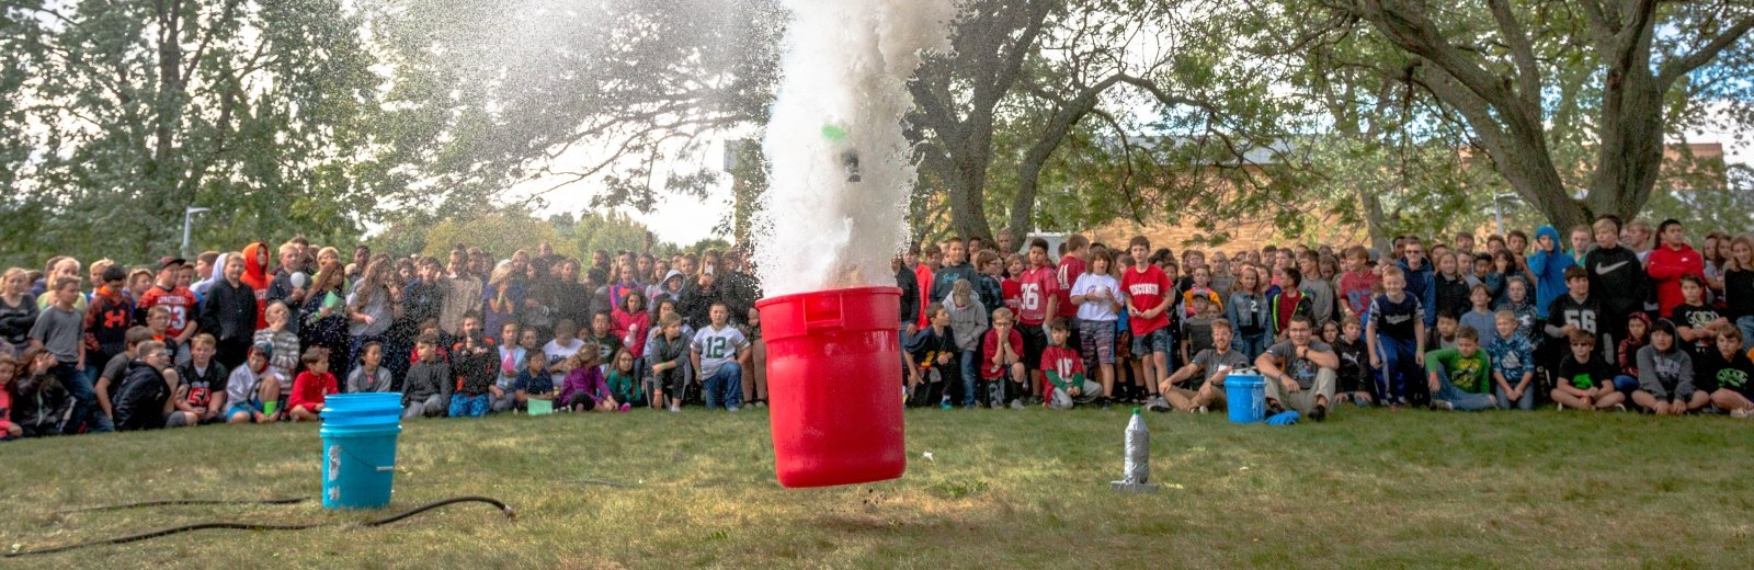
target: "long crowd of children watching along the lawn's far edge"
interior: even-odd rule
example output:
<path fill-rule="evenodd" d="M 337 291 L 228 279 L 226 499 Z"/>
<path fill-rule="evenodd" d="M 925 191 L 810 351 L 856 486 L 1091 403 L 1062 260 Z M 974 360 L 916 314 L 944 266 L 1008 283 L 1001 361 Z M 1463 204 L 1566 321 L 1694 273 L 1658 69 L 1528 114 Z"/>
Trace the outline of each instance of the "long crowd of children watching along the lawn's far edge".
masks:
<path fill-rule="evenodd" d="M 895 260 L 896 381 L 914 407 L 1203 412 L 1252 368 L 1270 409 L 1314 419 L 1344 402 L 1745 417 L 1754 246 L 1701 246 L 1677 221 L 1612 216 L 1387 253 L 951 239 Z M 766 400 L 761 293 L 737 249 L 361 246 L 349 263 L 293 239 L 81 268 L 4 274 L 0 438 L 319 421 L 342 389 L 402 393 L 407 419 Z"/>

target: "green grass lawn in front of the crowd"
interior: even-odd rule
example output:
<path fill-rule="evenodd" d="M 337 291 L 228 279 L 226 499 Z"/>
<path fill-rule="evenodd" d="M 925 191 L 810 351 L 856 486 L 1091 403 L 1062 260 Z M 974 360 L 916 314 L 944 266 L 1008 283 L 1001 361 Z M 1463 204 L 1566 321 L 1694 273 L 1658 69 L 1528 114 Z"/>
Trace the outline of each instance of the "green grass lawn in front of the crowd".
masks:
<path fill-rule="evenodd" d="M 1633 414 L 1342 409 L 1324 424 L 1149 414 L 1156 495 L 1121 495 L 1126 412 L 910 410 L 905 477 L 774 481 L 766 414 L 635 412 L 405 423 L 391 510 L 65 509 L 316 496 L 310 424 L 0 444 L 0 549 L 212 519 L 198 531 L 0 566 L 1745 566 L 1754 423 Z M 931 451 L 933 461 L 919 460 Z M 610 488 L 589 481 L 619 481 Z"/>

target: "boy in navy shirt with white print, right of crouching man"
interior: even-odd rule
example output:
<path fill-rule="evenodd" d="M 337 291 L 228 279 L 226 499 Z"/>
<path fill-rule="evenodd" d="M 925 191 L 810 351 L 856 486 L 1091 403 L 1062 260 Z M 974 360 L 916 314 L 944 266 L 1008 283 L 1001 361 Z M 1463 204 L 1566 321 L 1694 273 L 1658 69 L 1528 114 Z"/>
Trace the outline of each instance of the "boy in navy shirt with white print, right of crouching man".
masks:
<path fill-rule="evenodd" d="M 1422 389 L 1426 382 L 1419 382 L 1426 346 L 1424 305 L 1407 295 L 1405 288 L 1407 279 L 1400 268 L 1382 270 L 1384 293 L 1370 300 L 1365 342 L 1370 367 L 1380 368 L 1382 382 L 1387 384 L 1377 391 L 1387 395 L 1391 403 L 1424 405 L 1430 398 Z"/>

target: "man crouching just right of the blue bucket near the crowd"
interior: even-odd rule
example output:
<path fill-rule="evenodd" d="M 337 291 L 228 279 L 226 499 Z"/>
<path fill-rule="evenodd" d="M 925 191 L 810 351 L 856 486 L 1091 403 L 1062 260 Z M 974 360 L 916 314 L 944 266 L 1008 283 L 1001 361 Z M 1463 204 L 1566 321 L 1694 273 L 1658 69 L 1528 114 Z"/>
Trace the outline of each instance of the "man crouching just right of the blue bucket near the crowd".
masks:
<path fill-rule="evenodd" d="M 1316 321 L 1307 314 L 1293 314 L 1286 328 L 1286 340 L 1266 347 L 1254 360 L 1254 368 L 1266 381 L 1270 414 L 1291 407 L 1314 421 L 1328 419 L 1340 356 L 1333 354 L 1333 347 L 1316 340 L 1314 335 Z"/>

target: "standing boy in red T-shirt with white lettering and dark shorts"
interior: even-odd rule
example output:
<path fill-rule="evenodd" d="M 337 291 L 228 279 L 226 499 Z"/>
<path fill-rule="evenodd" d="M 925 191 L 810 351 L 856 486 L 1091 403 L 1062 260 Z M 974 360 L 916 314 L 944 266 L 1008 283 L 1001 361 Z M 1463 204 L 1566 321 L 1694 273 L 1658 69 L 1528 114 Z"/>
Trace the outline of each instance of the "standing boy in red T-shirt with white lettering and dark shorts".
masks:
<path fill-rule="evenodd" d="M 1151 265 L 1151 240 L 1135 235 L 1128 242 L 1133 267 L 1121 275 L 1121 289 L 1126 291 L 1126 319 L 1131 328 L 1131 353 L 1140 372 L 1135 382 L 1145 384 L 1156 398 L 1149 405 L 1166 407 L 1168 402 L 1158 395 L 1158 386 L 1170 375 L 1170 347 L 1175 338 L 1170 331 L 1168 312 L 1175 305 L 1173 288 L 1163 268 Z M 1100 403 L 1107 405 L 1109 400 Z"/>

